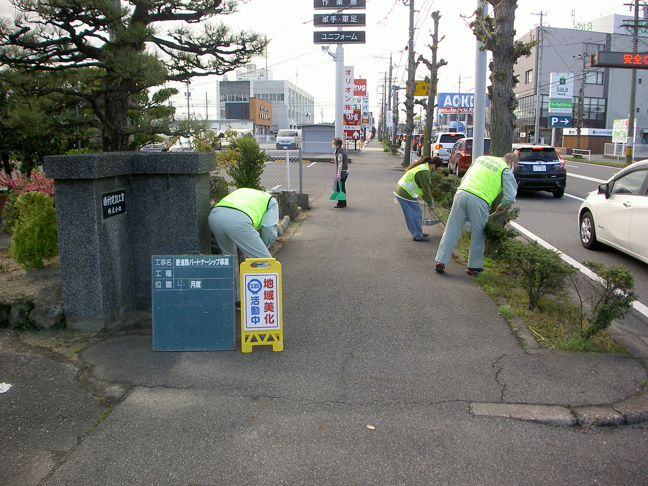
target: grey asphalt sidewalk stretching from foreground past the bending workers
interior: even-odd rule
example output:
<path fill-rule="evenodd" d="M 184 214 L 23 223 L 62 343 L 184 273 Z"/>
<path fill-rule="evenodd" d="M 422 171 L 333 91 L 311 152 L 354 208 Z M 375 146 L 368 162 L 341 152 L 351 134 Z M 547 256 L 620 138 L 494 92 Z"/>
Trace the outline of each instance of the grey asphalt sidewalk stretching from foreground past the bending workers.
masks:
<path fill-rule="evenodd" d="M 349 167 L 347 209 L 333 209 L 328 179 L 310 194 L 307 219 L 275 255 L 283 352 L 156 353 L 149 332 L 93 345 L 81 358 L 117 406 L 58 461 L 41 454 L 30 476 L 43 472 L 40 483 L 17 459 L 10 470 L 23 476 L 4 483 L 535 486 L 622 474 L 645 484 L 643 426 L 588 436 L 541 425 L 648 419 L 640 360 L 525 349 L 465 265 L 434 272 L 443 227 L 411 240 L 392 194 L 399 163 L 371 143 Z M 25 386 L 9 379 L 2 399 Z M 60 386 L 64 408 L 95 411 L 69 395 L 76 384 Z"/>

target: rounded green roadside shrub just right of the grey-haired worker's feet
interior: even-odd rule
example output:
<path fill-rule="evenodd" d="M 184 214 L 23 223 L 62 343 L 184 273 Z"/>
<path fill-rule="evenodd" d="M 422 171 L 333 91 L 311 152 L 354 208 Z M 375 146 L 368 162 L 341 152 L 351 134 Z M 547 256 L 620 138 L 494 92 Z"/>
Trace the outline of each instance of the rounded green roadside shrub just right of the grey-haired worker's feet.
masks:
<path fill-rule="evenodd" d="M 534 309 L 542 295 L 564 290 L 573 266 L 561 260 L 557 251 L 544 248 L 537 241 L 526 244 L 509 240 L 503 245 L 509 268 L 520 276 L 520 286 L 529 297 L 529 309 Z"/>

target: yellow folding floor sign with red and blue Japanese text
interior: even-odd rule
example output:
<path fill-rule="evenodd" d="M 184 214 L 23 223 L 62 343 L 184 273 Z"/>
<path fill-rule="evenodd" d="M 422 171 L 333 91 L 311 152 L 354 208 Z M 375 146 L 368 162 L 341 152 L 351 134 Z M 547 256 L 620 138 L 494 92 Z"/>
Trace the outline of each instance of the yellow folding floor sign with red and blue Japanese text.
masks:
<path fill-rule="evenodd" d="M 246 259 L 240 265 L 241 351 L 272 344 L 283 351 L 281 263 L 273 258 Z"/>

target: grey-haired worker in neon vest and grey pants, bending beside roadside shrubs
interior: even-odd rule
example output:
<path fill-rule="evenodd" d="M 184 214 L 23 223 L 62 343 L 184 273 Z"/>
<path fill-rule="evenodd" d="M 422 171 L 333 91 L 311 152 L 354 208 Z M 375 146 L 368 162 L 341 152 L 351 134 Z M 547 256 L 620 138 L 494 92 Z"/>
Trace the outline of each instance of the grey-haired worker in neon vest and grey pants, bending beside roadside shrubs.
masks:
<path fill-rule="evenodd" d="M 436 272 L 445 272 L 452 251 L 459 240 L 463 226 L 470 221 L 470 253 L 468 255 L 469 275 L 483 272 L 484 227 L 488 222 L 492 202 L 503 191 L 502 202 L 495 212 L 501 214 L 515 202 L 518 186 L 512 170 L 518 167 L 520 159 L 516 154 L 504 157 L 477 157 L 461 179 L 452 201 L 443 237 L 437 251 Z M 511 170 L 512 169 L 512 170 Z"/>

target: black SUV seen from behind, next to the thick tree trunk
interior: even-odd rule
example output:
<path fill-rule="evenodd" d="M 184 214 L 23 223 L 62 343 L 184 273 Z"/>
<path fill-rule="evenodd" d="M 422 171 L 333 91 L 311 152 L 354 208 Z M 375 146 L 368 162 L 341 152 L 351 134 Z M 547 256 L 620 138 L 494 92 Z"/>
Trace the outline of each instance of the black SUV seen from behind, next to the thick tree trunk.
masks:
<path fill-rule="evenodd" d="M 520 157 L 513 171 L 518 189 L 547 191 L 554 198 L 562 198 L 567 185 L 564 160 L 551 145 L 514 143 L 513 152 Z"/>

